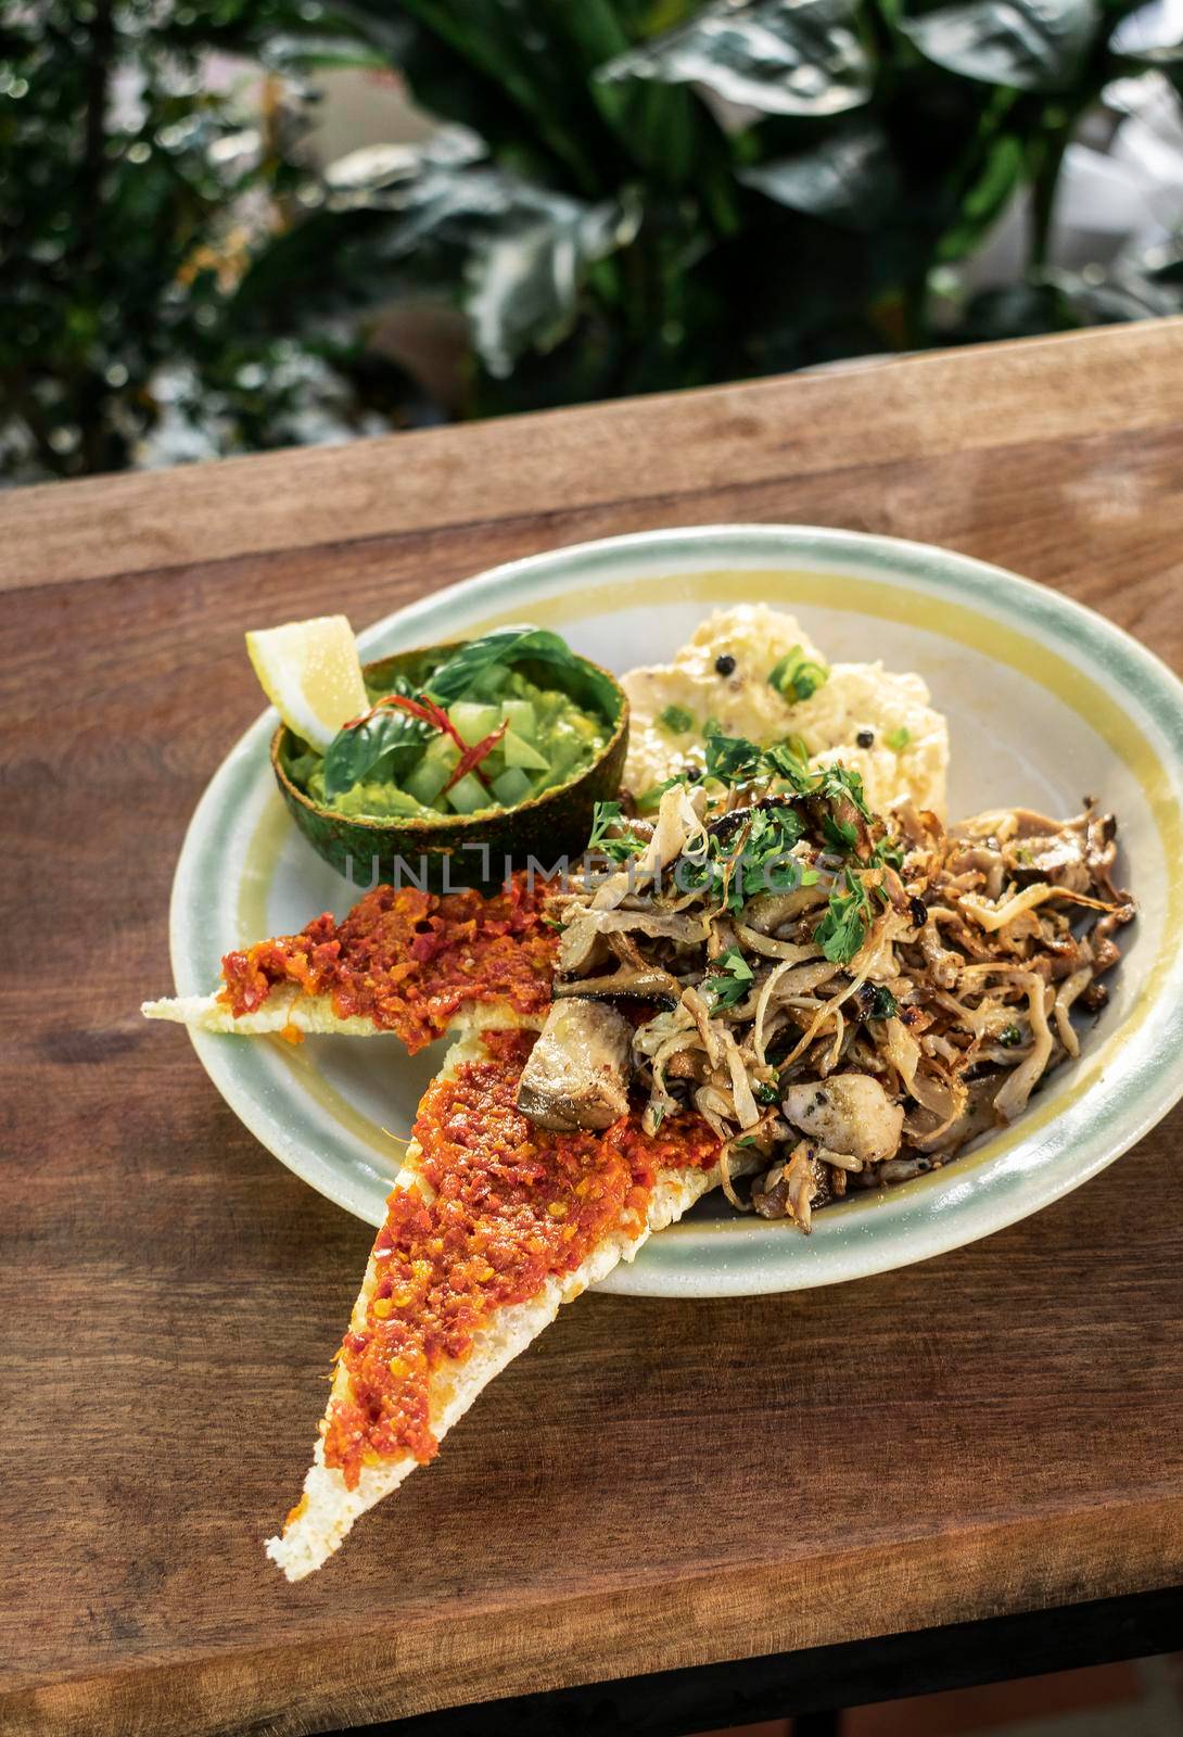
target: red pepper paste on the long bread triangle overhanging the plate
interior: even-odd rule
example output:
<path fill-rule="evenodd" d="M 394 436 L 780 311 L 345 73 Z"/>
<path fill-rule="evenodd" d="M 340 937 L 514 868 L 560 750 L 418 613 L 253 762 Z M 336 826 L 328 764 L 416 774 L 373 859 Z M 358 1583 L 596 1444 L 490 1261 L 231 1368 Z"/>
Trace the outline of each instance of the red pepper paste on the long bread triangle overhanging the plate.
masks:
<path fill-rule="evenodd" d="M 691 1113 L 660 1134 L 641 1133 L 639 1110 L 603 1133 L 535 1127 L 514 1105 L 533 1042 L 486 1032 L 486 1058 L 434 1080 L 419 1106 L 419 1171 L 434 1199 L 389 1197 L 365 1327 L 337 1353 L 351 1393 L 330 1407 L 325 1461 L 349 1489 L 363 1464 L 436 1454 L 431 1372 L 464 1360 L 495 1310 L 537 1298 L 613 1230 L 638 1235 L 658 1176 L 717 1160 L 719 1141 Z"/>

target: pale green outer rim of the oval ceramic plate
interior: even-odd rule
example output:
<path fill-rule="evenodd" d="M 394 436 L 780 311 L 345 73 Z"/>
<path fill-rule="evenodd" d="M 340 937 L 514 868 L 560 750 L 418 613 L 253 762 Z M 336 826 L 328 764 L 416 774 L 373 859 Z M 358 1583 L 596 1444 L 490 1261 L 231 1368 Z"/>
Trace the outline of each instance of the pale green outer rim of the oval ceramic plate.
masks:
<path fill-rule="evenodd" d="M 572 563 L 584 566 L 589 563 L 613 565 L 622 556 L 629 554 L 651 556 L 653 552 L 669 552 L 671 570 L 676 570 L 679 561 L 686 561 L 688 554 L 702 556 L 704 552 L 714 554 L 717 551 L 717 568 L 723 571 L 730 565 L 740 561 L 738 547 L 723 547 L 724 544 L 747 545 L 745 554 L 749 556 L 749 568 L 752 566 L 750 556 L 764 551 L 768 558 L 771 558 L 771 565 L 783 566 L 785 570 L 790 570 L 796 563 L 803 570 L 813 566 L 816 571 L 825 571 L 827 561 L 837 565 L 841 570 L 841 563 L 846 561 L 851 565 L 877 566 L 888 573 L 895 571 L 898 577 L 905 577 L 912 582 L 922 580 L 928 587 L 938 592 L 947 592 L 950 585 L 955 584 L 955 578 L 962 577 L 971 582 L 971 591 L 975 592 L 971 601 L 978 610 L 990 615 L 995 615 L 995 610 L 992 610 L 988 601 L 980 596 L 980 591 L 983 584 L 997 585 L 1001 582 L 1002 598 L 1009 594 L 1018 601 L 1018 615 L 1028 629 L 1034 627 L 1039 632 L 1048 634 L 1051 639 L 1058 639 L 1060 634 L 1056 632 L 1056 627 L 1072 627 L 1075 636 L 1084 637 L 1093 650 L 1098 653 L 1100 650 L 1108 648 L 1120 651 L 1124 662 L 1145 676 L 1153 698 L 1160 703 L 1166 702 L 1166 712 L 1169 714 L 1169 721 L 1174 724 L 1174 733 L 1167 730 L 1162 717 L 1147 705 L 1145 695 L 1138 697 L 1140 703 L 1136 710 L 1141 719 L 1148 721 L 1155 728 L 1155 731 L 1166 740 L 1167 747 L 1174 750 L 1173 756 L 1166 757 L 1164 764 L 1167 771 L 1176 773 L 1176 787 L 1183 787 L 1183 683 L 1133 634 L 1126 632 L 1126 629 L 1110 622 L 1107 617 L 1087 608 L 1086 604 L 1077 603 L 1077 599 L 1067 598 L 1061 592 L 1048 585 L 1041 585 L 1039 582 L 1020 573 L 1013 573 L 1008 568 L 980 561 L 978 558 L 961 554 L 959 551 L 943 549 L 936 544 L 886 537 L 874 532 L 853 532 L 836 526 L 810 525 L 721 523 L 627 532 L 578 544 L 563 544 L 537 554 L 499 563 L 497 566 L 469 578 L 457 580 L 439 591 L 427 592 L 426 596 L 417 598 L 403 608 L 394 610 L 380 620 L 370 624 L 358 634 L 358 644 L 361 650 L 368 650 L 370 643 L 386 637 L 393 629 L 410 629 L 413 632 L 419 620 L 431 620 L 438 617 L 441 603 L 445 606 L 448 603 L 460 603 L 460 606 L 466 608 L 474 599 L 493 596 L 502 599 L 506 598 L 506 592 L 512 592 L 521 580 L 533 580 L 530 589 L 545 589 L 547 580 L 554 577 L 556 570 L 561 571 Z M 693 566 L 684 566 L 683 570 L 695 571 Z M 737 570 L 742 571 L 742 565 Z M 710 568 L 705 568 L 704 571 L 710 571 Z M 512 603 L 512 598 L 506 601 Z M 1027 606 L 1023 608 L 1023 604 Z M 466 608 L 466 613 L 473 611 Z M 1014 613 L 1014 610 L 1002 610 L 995 615 L 995 618 L 1013 620 Z M 413 643 L 413 639 L 410 643 Z M 1065 653 L 1063 646 L 1060 646 L 1060 650 Z M 1081 667 L 1070 653 L 1065 655 L 1068 657 L 1068 662 Z M 186 827 L 174 872 L 169 915 L 172 971 L 179 994 L 208 987 L 188 981 L 188 959 L 184 957 L 184 917 L 191 896 L 191 877 L 196 872 L 196 856 L 208 832 L 210 818 L 219 813 L 231 780 L 238 771 L 241 771 L 243 759 L 248 759 L 254 754 L 255 740 L 264 731 L 269 731 L 274 723 L 274 709 L 266 709 L 238 736 L 210 776 L 202 797 L 198 799 L 189 825 Z M 1183 941 L 1176 947 L 1174 959 L 1169 962 L 1173 964 L 1173 969 L 1167 969 L 1167 976 L 1159 988 L 1159 999 L 1164 999 L 1164 992 L 1174 983 L 1174 978 L 1180 976 L 1181 961 Z M 1174 1006 L 1167 1006 L 1167 1013 L 1174 1016 L 1174 1027 L 1173 1034 L 1166 1034 L 1166 1040 L 1157 1046 L 1159 1053 L 1169 1049 L 1171 1035 L 1183 1040 L 1183 994 L 1176 994 Z M 1159 1032 L 1162 1034 L 1160 1027 Z M 314 1186 L 320 1193 L 327 1195 L 354 1216 L 363 1218 L 367 1223 L 372 1223 L 368 1212 L 360 1211 L 356 1199 L 353 1199 L 354 1190 L 347 1185 L 347 1181 L 342 1185 L 342 1179 L 327 1160 L 318 1160 L 314 1153 L 307 1153 L 304 1148 L 299 1148 L 299 1141 L 294 1143 L 287 1139 L 281 1129 L 276 1127 L 266 1110 L 255 1101 L 254 1094 L 241 1087 L 231 1051 L 238 1051 L 240 1044 L 247 1044 L 250 1040 L 235 1040 L 233 1037 L 228 1040 L 226 1037 L 195 1030 L 189 1030 L 189 1037 L 215 1089 L 243 1126 L 261 1141 L 261 1145 L 264 1145 L 274 1157 L 278 1157 L 288 1169 Z M 1084 1098 L 1091 1101 L 1101 1091 L 1103 1082 L 1096 1080 L 1086 1087 Z M 1063 1153 L 1051 1152 L 1041 1166 L 1039 1181 L 1035 1181 L 1035 1174 L 1032 1172 L 1028 1174 L 1025 1186 L 1004 1192 L 999 1199 L 985 1200 L 978 1197 L 973 1202 L 964 1202 L 973 1207 L 971 1212 L 921 1212 L 919 1223 L 902 1225 L 898 1235 L 889 1235 L 886 1238 L 877 1235 L 874 1238 L 874 1245 L 862 1251 L 863 1258 L 860 1258 L 853 1249 L 851 1238 L 846 1238 L 846 1244 L 839 1245 L 837 1251 L 830 1251 L 829 1245 L 832 1240 L 841 1237 L 841 1226 L 834 1221 L 834 1230 L 822 1238 L 827 1245 L 827 1256 L 818 1261 L 813 1258 L 803 1258 L 803 1244 L 804 1247 L 811 1247 L 820 1252 L 820 1240 L 815 1235 L 811 1238 L 794 1238 L 797 1254 L 789 1263 L 785 1263 L 783 1258 L 780 1263 L 759 1261 L 756 1259 L 757 1251 L 749 1247 L 744 1256 L 744 1271 L 728 1271 L 726 1265 L 721 1270 L 716 1261 L 712 1270 L 695 1273 L 693 1251 L 686 1247 L 686 1240 L 697 1237 L 700 1242 L 707 1242 L 710 1237 L 717 1235 L 717 1232 L 710 1225 L 688 1225 L 681 1226 L 681 1230 L 674 1233 L 674 1238 L 681 1242 L 683 1251 L 690 1256 L 690 1265 L 684 1259 L 672 1261 L 674 1270 L 665 1270 L 671 1263 L 658 1258 L 658 1251 L 662 1249 L 662 1242 L 665 1242 L 665 1238 L 657 1238 L 648 1245 L 646 1258 L 641 1263 L 636 1266 L 625 1265 L 624 1268 L 618 1268 L 601 1289 L 632 1296 L 752 1296 L 849 1282 L 860 1277 L 870 1277 L 874 1273 L 914 1265 L 919 1259 L 929 1259 L 936 1254 L 976 1242 L 981 1237 L 994 1235 L 994 1232 L 1004 1230 L 1009 1225 L 1028 1218 L 1032 1212 L 1042 1211 L 1042 1207 L 1049 1205 L 1053 1200 L 1063 1199 L 1067 1193 L 1089 1181 L 1101 1169 L 1115 1162 L 1122 1153 L 1136 1145 L 1138 1139 L 1141 1139 L 1181 1096 L 1183 1070 L 1180 1070 L 1178 1080 L 1171 1077 L 1171 1068 L 1166 1063 L 1152 1067 L 1148 1072 L 1145 1068 L 1134 1070 L 1131 1079 L 1122 1080 L 1117 1112 L 1110 1108 L 1108 1113 L 1096 1117 L 1091 1129 L 1086 1131 L 1089 1157 L 1079 1157 L 1077 1162 L 1070 1166 L 1067 1174 L 1063 1171 Z M 1122 1113 L 1122 1108 L 1126 1113 Z M 1068 1110 L 1063 1113 L 1067 1115 Z M 1119 1124 L 1117 1127 L 1110 1126 L 1114 1119 Z M 1021 1141 L 1016 1150 L 1021 1150 Z M 948 1192 L 955 1192 L 955 1164 L 948 1166 L 940 1174 L 948 1179 Z M 912 1185 L 891 1190 L 884 1197 L 884 1204 L 903 1197 L 909 1186 Z M 837 1216 L 841 1216 L 841 1209 Z M 882 1218 L 877 1223 L 886 1228 Z M 735 1226 L 731 1221 L 724 1221 L 719 1228 L 726 1230 Z M 783 1232 L 777 1226 L 764 1226 L 764 1230 L 773 1237 L 783 1235 Z M 752 1238 L 752 1242 L 756 1238 Z M 764 1238 L 761 1237 L 759 1240 L 763 1242 Z M 672 1247 L 669 1252 L 672 1254 Z"/>

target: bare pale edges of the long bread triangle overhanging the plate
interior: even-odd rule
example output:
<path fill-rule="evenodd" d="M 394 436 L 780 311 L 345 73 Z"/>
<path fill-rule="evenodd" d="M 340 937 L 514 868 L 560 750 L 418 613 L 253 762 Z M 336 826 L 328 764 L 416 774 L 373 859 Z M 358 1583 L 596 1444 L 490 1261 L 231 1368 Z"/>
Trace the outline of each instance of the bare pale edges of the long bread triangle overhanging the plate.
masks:
<path fill-rule="evenodd" d="M 448 1051 L 438 1079 L 453 1079 L 466 1061 L 479 1060 L 483 1054 L 483 1032 L 497 1027 L 497 1009 L 474 1011 L 467 1030 Z M 406 1162 L 396 1178 L 394 1188 L 419 1190 L 424 1199 L 431 1197 L 427 1185 L 419 1176 L 422 1148 L 412 1141 L 406 1148 Z M 549 1322 L 554 1320 L 563 1303 L 573 1301 L 589 1285 L 605 1278 L 618 1261 L 632 1261 L 638 1251 L 655 1230 L 681 1218 L 700 1195 L 717 1186 L 719 1167 L 684 1167 L 658 1174 L 648 1199 L 643 1223 L 632 1226 L 615 1225 L 591 1251 L 575 1271 L 551 1275 L 544 1280 L 537 1296 L 525 1303 L 502 1306 L 478 1329 L 473 1350 L 460 1362 L 445 1362 L 429 1377 L 429 1426 L 436 1440 L 443 1438 L 452 1424 L 464 1416 L 478 1393 L 497 1376 L 519 1351 L 535 1339 Z M 382 1245 L 384 1232 L 379 1232 L 375 1249 Z M 351 1332 L 361 1332 L 367 1325 L 370 1301 L 373 1299 L 379 1266 L 370 1256 L 358 1301 L 349 1322 Z M 406 1478 L 419 1461 L 410 1454 L 398 1459 L 361 1464 L 358 1483 L 349 1489 L 344 1471 L 325 1464 L 323 1431 L 334 1405 L 349 1400 L 349 1370 L 344 1362 L 337 1364 L 328 1409 L 321 1424 L 321 1438 L 316 1442 L 313 1466 L 304 1478 L 304 1494 L 287 1518 L 280 1537 L 268 1541 L 268 1555 L 276 1562 L 288 1581 L 301 1581 L 306 1574 L 320 1569 L 321 1563 L 339 1548 L 346 1534 L 367 1508 L 373 1508 L 384 1496 L 389 1496 Z"/>

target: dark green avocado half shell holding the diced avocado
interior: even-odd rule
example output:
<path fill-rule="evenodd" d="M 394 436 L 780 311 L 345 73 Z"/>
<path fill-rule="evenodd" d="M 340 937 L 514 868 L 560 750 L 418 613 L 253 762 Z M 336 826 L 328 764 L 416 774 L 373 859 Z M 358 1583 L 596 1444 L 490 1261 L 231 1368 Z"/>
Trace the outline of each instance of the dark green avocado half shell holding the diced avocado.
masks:
<path fill-rule="evenodd" d="M 396 674 L 412 683 L 422 683 L 459 644 L 420 646 L 412 651 L 394 651 L 391 657 L 365 664 L 370 691 L 389 691 Z M 306 752 L 306 743 L 287 724 L 280 724 L 271 738 L 271 768 L 292 818 L 313 849 L 327 863 L 351 879 L 361 889 L 377 882 L 420 884 L 439 888 L 497 888 L 509 868 L 525 868 L 533 858 L 539 872 L 551 870 L 559 858 L 575 858 L 587 844 L 596 802 L 617 796 L 629 749 L 629 700 L 617 677 L 578 658 L 587 672 L 563 670 L 563 691 L 577 705 L 603 717 L 608 742 L 598 757 L 568 783 L 544 790 L 542 796 L 518 802 L 516 808 L 493 809 L 486 815 L 431 815 L 406 818 L 391 815 L 382 820 L 363 820 L 356 815 L 339 815 L 323 808 L 301 790 L 290 778 L 292 759 Z M 528 660 L 514 665 L 539 686 L 558 686 L 551 665 L 532 665 Z M 605 716 L 605 677 L 617 700 L 613 717 Z M 445 867 L 446 865 L 446 867 Z"/>

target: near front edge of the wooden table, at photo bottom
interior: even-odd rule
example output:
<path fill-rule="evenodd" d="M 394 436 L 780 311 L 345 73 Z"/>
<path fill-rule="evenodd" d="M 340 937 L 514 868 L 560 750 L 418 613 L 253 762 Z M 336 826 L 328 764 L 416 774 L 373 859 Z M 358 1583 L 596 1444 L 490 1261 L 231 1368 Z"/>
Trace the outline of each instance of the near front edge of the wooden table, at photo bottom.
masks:
<path fill-rule="evenodd" d="M 486 1614 L 473 1612 L 446 1631 L 446 1659 L 424 1650 L 424 1640 L 438 1635 L 434 1617 L 398 1635 L 382 1626 L 347 1641 L 302 1635 L 297 1648 L 219 1648 L 182 1664 L 144 1661 L 57 1683 L 0 1688 L 0 1728 L 5 1737 L 64 1737 L 76 1732 L 76 1713 L 85 1707 L 87 1737 L 245 1737 L 259 1730 L 306 1737 L 653 1671 L 1070 1607 L 1100 1589 L 1126 1598 L 1183 1584 L 1183 1492 L 1173 1487 L 1136 1503 L 1041 1516 L 1039 1563 L 1018 1548 L 1028 1525 L 1014 1516 L 914 1537 L 903 1546 L 893 1541 L 860 1548 L 853 1555 L 863 1605 L 856 1608 L 836 1612 L 825 1596 L 830 1575 L 851 1584 L 851 1563 L 841 1551 L 790 1563 L 738 1563 L 683 1575 L 660 1596 L 638 1582 L 608 1595 L 523 1607 L 519 1647 L 497 1664 L 493 1678 Z M 347 1572 L 347 1563 L 321 1572 Z M 940 1595 L 929 1591 L 933 1586 Z M 898 1600 L 902 1588 L 895 1619 L 884 1622 L 891 1595 Z M 723 1605 L 726 1622 L 719 1622 Z M 613 1647 L 610 1661 L 606 1645 Z M 153 1709 L 149 1725 L 137 1718 L 146 1707 Z M 236 1709 L 229 1720 L 226 1707 Z"/>

